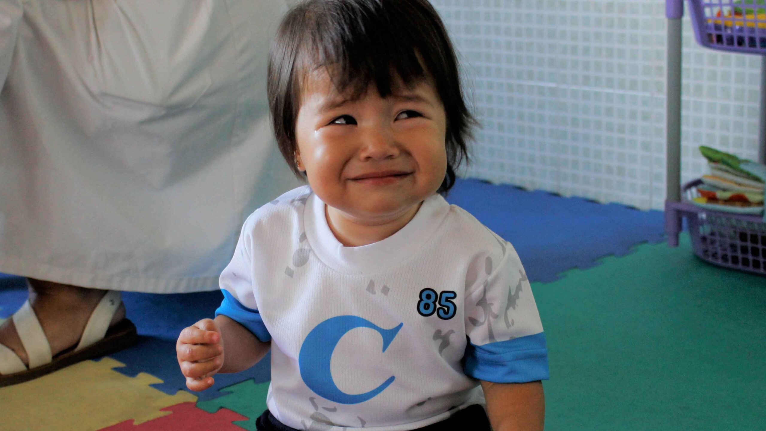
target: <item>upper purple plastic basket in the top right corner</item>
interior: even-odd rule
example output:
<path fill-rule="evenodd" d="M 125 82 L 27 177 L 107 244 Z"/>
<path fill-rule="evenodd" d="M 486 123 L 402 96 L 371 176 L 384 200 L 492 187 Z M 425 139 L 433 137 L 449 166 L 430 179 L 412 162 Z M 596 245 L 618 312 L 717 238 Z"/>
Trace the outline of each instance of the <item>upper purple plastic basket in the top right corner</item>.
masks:
<path fill-rule="evenodd" d="M 766 1 L 688 2 L 699 44 L 722 51 L 766 54 Z"/>

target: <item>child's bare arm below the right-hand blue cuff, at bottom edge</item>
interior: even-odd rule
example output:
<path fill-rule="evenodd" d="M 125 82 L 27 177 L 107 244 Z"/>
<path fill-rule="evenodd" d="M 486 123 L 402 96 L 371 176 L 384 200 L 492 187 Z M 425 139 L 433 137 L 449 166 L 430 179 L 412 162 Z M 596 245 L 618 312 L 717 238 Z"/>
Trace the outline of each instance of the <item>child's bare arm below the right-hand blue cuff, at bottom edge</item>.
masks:
<path fill-rule="evenodd" d="M 493 383 L 481 380 L 494 431 L 539 431 L 545 423 L 542 382 Z"/>

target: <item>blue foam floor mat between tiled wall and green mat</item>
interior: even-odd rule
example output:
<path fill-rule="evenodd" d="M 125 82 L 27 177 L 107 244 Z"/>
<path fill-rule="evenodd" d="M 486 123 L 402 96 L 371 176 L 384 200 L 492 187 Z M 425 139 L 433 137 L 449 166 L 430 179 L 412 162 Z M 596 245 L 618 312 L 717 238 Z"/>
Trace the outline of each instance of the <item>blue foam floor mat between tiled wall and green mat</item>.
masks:
<path fill-rule="evenodd" d="M 604 256 L 626 255 L 642 242 L 665 240 L 662 211 L 563 198 L 479 179 L 458 181 L 447 201 L 511 242 L 530 281 L 555 281 L 569 269 L 591 268 Z"/>

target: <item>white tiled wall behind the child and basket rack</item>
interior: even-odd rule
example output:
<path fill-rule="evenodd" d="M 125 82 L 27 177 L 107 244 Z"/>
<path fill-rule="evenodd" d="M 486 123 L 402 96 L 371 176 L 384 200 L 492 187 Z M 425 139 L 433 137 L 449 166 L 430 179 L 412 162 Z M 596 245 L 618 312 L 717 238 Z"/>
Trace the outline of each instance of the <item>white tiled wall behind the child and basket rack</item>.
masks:
<path fill-rule="evenodd" d="M 469 176 L 662 209 L 665 3 L 432 0 L 483 123 Z M 761 58 L 696 44 L 685 18 L 683 181 L 696 147 L 758 155 Z"/>

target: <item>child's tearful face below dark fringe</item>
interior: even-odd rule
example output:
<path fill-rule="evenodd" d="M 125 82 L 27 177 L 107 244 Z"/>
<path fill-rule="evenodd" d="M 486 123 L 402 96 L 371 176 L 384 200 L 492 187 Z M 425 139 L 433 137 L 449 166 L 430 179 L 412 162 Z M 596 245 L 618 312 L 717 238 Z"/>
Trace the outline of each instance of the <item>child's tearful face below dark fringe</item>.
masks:
<path fill-rule="evenodd" d="M 444 107 L 429 81 L 382 98 L 338 94 L 309 74 L 296 119 L 300 167 L 328 206 L 363 223 L 387 222 L 434 194 L 447 172 Z"/>

